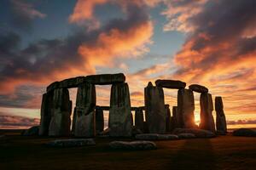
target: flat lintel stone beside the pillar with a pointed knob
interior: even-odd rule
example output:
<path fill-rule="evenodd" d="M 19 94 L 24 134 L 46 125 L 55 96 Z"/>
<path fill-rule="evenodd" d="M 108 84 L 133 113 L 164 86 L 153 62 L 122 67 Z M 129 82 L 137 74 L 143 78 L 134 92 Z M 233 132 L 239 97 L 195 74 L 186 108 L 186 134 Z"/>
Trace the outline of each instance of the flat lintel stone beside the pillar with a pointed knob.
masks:
<path fill-rule="evenodd" d="M 154 82 L 157 87 L 180 89 L 186 87 L 186 82 L 178 80 L 157 80 Z"/>

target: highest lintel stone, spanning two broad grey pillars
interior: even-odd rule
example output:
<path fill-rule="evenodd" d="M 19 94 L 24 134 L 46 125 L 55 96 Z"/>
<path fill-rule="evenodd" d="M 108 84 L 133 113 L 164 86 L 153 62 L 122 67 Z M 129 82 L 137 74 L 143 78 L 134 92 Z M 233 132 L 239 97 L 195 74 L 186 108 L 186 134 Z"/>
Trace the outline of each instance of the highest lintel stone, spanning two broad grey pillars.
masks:
<path fill-rule="evenodd" d="M 123 73 L 118 74 L 102 74 L 102 75 L 91 75 L 85 78 L 86 82 L 99 85 L 107 85 L 119 82 L 125 82 L 125 75 Z"/>

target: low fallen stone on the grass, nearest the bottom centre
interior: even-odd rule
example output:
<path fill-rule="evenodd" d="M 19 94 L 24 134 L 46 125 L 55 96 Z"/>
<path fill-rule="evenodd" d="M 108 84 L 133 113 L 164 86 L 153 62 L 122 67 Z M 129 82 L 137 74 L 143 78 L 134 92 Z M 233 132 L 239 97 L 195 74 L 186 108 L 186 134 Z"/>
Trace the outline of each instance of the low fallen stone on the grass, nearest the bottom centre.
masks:
<path fill-rule="evenodd" d="M 113 141 L 109 146 L 115 150 L 155 150 L 156 144 L 150 141 Z"/>

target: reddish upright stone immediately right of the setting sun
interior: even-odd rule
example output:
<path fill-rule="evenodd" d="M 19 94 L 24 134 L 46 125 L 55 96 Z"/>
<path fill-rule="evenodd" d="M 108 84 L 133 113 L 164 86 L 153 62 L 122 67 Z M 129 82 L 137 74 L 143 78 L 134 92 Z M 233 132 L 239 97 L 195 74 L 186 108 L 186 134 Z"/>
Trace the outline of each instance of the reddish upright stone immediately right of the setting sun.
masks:
<path fill-rule="evenodd" d="M 209 130 L 215 133 L 215 124 L 212 116 L 213 104 L 212 104 L 212 94 L 201 94 L 200 95 L 200 128 Z"/>

